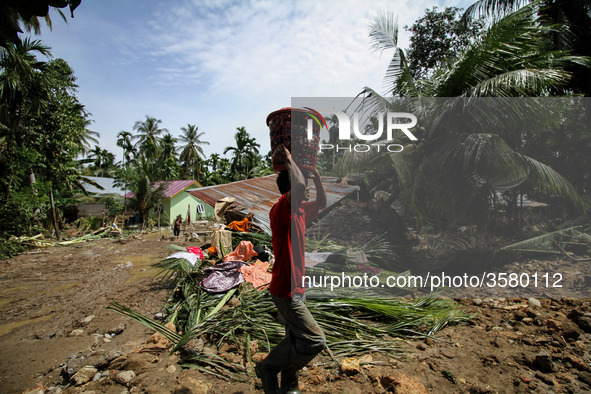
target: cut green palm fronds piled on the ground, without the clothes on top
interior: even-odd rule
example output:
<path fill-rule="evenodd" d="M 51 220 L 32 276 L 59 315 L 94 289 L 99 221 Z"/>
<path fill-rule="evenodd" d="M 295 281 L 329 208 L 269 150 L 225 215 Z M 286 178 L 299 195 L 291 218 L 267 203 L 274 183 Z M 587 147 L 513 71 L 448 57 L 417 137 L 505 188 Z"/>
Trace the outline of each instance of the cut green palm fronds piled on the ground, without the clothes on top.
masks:
<path fill-rule="evenodd" d="M 177 247 L 173 247 L 177 249 Z M 211 294 L 199 286 L 203 268 L 213 261 L 169 258 L 155 264 L 158 274 L 173 284 L 165 307 L 163 324 L 124 306 L 112 303 L 110 309 L 160 332 L 172 344 L 172 351 L 183 350 L 185 365 L 233 381 L 252 374 L 252 352 L 268 352 L 284 336 L 268 290 L 253 289 L 248 283 L 223 294 Z M 310 292 L 314 293 L 314 292 Z M 328 353 L 348 357 L 379 352 L 390 357 L 404 354 L 403 337 L 430 336 L 450 322 L 465 318 L 449 300 L 433 296 L 420 300 L 391 298 L 310 298 L 307 305 L 324 330 Z M 194 344 L 201 343 L 201 348 Z M 237 349 L 240 362 L 204 351 L 229 344 Z M 338 364 L 334 364 L 338 365 Z"/>

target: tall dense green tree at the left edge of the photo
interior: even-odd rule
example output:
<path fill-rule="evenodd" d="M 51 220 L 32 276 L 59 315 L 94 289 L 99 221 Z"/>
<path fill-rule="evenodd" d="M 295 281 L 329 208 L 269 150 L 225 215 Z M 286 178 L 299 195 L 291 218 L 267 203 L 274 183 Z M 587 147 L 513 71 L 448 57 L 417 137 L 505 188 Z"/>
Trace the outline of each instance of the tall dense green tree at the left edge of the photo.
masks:
<path fill-rule="evenodd" d="M 49 202 L 59 238 L 60 200 L 86 181 L 76 157 L 92 134 L 69 65 L 36 54 L 50 56 L 47 47 L 28 39 L 0 47 L 0 216 L 10 215 L 14 224 L 28 217 L 27 201 L 31 211 Z"/>

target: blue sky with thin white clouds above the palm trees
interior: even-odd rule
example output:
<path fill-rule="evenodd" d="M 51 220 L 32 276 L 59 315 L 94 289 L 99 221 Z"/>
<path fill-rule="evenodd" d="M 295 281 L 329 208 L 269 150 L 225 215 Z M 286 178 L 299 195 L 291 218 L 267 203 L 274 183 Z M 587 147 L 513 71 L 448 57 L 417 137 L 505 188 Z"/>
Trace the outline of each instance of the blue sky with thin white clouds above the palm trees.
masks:
<path fill-rule="evenodd" d="M 404 25 L 426 8 L 472 1 L 83 0 L 74 19 L 52 14 L 38 37 L 74 69 L 90 129 L 115 153 L 116 135 L 146 115 L 174 136 L 196 124 L 206 154 L 233 145 L 244 126 L 269 150 L 267 115 L 291 97 L 354 97 L 380 90 L 391 53 L 370 47 L 379 11 Z M 66 12 L 66 14 L 69 14 Z"/>

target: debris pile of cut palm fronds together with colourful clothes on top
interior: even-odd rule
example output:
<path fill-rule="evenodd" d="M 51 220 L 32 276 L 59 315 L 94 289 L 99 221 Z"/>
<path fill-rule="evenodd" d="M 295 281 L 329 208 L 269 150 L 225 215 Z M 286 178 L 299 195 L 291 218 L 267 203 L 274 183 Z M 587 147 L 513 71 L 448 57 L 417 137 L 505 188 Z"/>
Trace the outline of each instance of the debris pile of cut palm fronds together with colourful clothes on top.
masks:
<path fill-rule="evenodd" d="M 220 230 L 225 231 L 225 230 Z M 215 233 L 215 232 L 214 232 Z M 254 363 L 284 336 L 266 284 L 272 270 L 270 236 L 231 232 L 234 251 L 222 251 L 223 242 L 200 248 L 169 246 L 176 253 L 155 264 L 158 275 L 172 288 L 162 317 L 143 316 L 123 305 L 109 308 L 144 324 L 170 341 L 183 366 L 233 382 L 254 378 Z M 374 241 L 375 242 L 375 241 Z M 319 242 L 311 243 L 318 248 Z M 355 250 L 330 244 L 355 259 Z M 222 257 L 220 257 L 222 256 Z M 351 257 L 352 256 L 352 257 Z M 404 357 L 403 338 L 428 337 L 445 325 L 466 318 L 451 300 L 309 297 L 308 308 L 327 338 L 326 350 L 315 360 L 323 368 L 342 368 L 343 360 L 381 354 L 390 363 Z"/>

